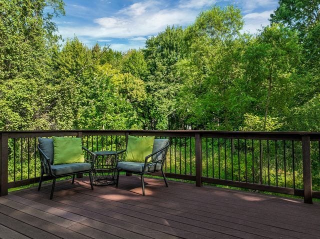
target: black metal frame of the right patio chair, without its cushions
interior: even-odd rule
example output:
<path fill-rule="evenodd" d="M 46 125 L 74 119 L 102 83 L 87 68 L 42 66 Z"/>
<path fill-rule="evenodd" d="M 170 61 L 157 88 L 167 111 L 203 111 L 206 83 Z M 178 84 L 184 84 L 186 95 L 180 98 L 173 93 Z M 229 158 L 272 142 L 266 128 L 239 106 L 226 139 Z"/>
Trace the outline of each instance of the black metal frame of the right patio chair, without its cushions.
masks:
<path fill-rule="evenodd" d="M 118 187 L 120 171 L 126 172 L 126 173 L 131 173 L 131 174 L 136 174 L 136 175 L 140 175 L 141 176 L 141 184 L 142 184 L 142 194 L 143 194 L 143 196 L 145 195 L 145 193 L 144 193 L 144 178 L 143 178 L 144 174 L 151 174 L 151 173 L 155 173 L 155 172 L 161 172 L 162 176 L 163 176 L 163 179 L 164 179 L 165 187 L 168 187 L 168 184 L 166 182 L 166 178 L 165 178 L 165 175 L 164 175 L 164 172 L 163 172 L 163 165 L 164 165 L 164 162 L 165 162 L 165 158 L 166 158 L 166 153 L 167 153 L 168 147 L 169 147 L 169 142 L 167 142 L 167 144 L 164 147 L 162 147 L 161 149 L 159 149 L 156 152 L 146 156 L 145 160 L 144 160 L 144 168 L 143 168 L 143 171 L 141 173 L 128 171 L 128 170 L 122 170 L 122 169 L 118 169 L 118 167 L 116 167 L 117 168 L 117 177 L 116 177 L 115 188 Z M 126 149 L 118 152 L 117 155 L 119 155 L 121 153 L 124 153 L 125 151 L 126 151 Z M 161 158 L 159 160 L 156 160 L 156 161 L 152 161 L 152 160 L 150 161 L 149 160 L 150 158 L 152 159 L 153 157 L 156 157 L 156 159 L 157 159 L 160 155 L 161 155 Z M 116 158 L 118 159 L 119 157 L 116 157 Z M 118 162 L 120 162 L 120 160 L 117 160 L 116 166 L 117 166 Z M 161 169 L 160 170 L 156 170 L 157 164 L 161 164 Z M 153 170 L 145 171 L 146 169 L 149 169 L 149 167 L 151 167 L 151 166 L 154 166 Z"/>

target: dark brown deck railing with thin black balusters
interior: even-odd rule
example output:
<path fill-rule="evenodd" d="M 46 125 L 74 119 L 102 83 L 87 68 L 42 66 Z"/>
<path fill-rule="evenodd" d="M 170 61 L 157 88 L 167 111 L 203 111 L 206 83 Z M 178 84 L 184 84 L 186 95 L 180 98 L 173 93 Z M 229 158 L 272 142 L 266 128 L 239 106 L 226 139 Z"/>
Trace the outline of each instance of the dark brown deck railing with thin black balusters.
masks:
<path fill-rule="evenodd" d="M 0 195 L 36 183 L 38 137 L 81 137 L 91 151 L 125 148 L 128 135 L 168 138 L 169 178 L 320 198 L 320 133 L 158 130 L 0 132 Z M 49 179 L 49 178 L 47 178 Z"/>

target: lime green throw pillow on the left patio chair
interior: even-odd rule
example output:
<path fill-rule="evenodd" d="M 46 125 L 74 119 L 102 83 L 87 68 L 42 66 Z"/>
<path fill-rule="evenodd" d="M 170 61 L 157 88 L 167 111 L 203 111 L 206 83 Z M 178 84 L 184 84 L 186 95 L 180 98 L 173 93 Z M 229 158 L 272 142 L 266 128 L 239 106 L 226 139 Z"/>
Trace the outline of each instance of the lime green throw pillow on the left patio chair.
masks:
<path fill-rule="evenodd" d="M 53 165 L 83 163 L 81 138 L 52 137 Z"/>

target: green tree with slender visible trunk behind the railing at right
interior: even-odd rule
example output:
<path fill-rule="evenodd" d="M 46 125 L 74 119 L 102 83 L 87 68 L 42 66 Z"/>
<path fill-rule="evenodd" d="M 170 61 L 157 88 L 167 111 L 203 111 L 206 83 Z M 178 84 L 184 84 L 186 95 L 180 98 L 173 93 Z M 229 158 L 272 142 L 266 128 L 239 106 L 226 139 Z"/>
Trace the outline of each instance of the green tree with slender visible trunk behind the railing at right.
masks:
<path fill-rule="evenodd" d="M 244 54 L 248 88 L 243 90 L 253 99 L 255 114 L 264 117 L 262 131 L 269 114 L 282 121 L 289 114 L 300 52 L 296 31 L 272 24 L 263 28 Z"/>

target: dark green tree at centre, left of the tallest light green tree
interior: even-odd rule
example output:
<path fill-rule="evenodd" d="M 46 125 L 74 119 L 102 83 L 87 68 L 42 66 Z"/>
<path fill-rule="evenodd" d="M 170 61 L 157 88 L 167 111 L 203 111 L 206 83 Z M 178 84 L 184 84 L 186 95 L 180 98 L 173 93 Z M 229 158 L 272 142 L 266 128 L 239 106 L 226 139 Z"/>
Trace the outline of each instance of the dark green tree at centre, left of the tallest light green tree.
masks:
<path fill-rule="evenodd" d="M 175 112 L 175 97 L 181 85 L 175 75 L 175 64 L 183 57 L 183 47 L 183 30 L 179 26 L 167 26 L 145 42 L 143 52 L 149 71 L 144 108 L 149 126 L 145 125 L 145 128 L 168 127 L 168 117 Z"/>

